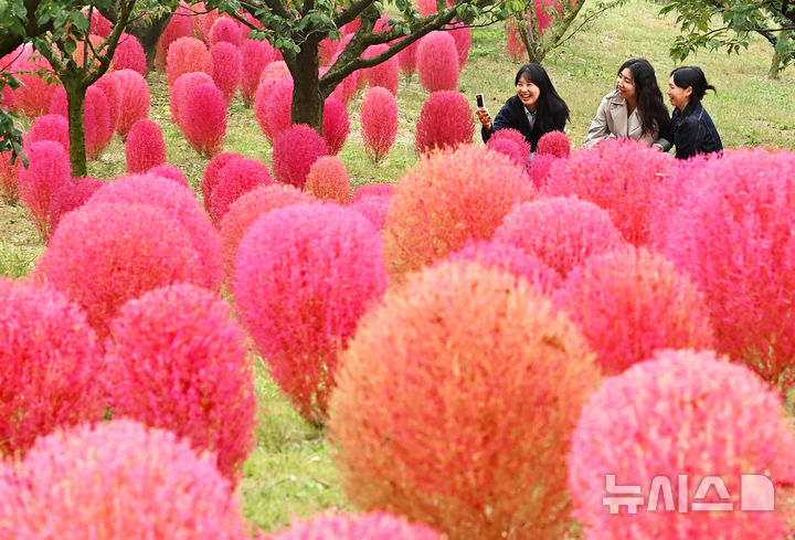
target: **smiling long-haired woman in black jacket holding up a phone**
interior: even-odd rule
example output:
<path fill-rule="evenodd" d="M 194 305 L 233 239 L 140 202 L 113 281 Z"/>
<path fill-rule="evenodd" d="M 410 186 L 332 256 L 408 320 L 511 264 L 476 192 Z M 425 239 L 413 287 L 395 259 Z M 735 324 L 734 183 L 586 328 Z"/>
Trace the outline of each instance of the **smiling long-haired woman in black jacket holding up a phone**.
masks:
<path fill-rule="evenodd" d="M 513 128 L 524 136 L 534 152 L 542 135 L 563 131 L 569 107 L 540 64 L 521 66 L 516 76 L 516 91 L 517 95 L 506 102 L 494 121 L 486 109 L 476 112 L 483 124 L 480 135 L 486 142 L 495 131 Z"/>

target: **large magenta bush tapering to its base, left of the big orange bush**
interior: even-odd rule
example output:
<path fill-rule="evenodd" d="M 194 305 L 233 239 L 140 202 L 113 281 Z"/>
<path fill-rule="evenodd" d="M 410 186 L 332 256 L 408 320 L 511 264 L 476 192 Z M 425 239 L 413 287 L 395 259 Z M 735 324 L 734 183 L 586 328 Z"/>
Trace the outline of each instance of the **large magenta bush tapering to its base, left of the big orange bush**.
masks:
<path fill-rule="evenodd" d="M 344 207 L 277 209 L 243 237 L 235 305 L 274 380 L 307 421 L 325 421 L 338 356 L 385 287 L 379 233 Z"/>

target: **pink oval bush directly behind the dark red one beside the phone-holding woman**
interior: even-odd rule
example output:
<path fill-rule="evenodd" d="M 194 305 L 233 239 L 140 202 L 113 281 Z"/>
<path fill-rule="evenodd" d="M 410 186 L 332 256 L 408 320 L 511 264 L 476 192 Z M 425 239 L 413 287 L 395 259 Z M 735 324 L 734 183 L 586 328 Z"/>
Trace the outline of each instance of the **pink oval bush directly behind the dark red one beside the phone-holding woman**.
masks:
<path fill-rule="evenodd" d="M 420 84 L 428 92 L 458 89 L 458 52 L 448 32 L 431 32 L 417 46 Z"/>

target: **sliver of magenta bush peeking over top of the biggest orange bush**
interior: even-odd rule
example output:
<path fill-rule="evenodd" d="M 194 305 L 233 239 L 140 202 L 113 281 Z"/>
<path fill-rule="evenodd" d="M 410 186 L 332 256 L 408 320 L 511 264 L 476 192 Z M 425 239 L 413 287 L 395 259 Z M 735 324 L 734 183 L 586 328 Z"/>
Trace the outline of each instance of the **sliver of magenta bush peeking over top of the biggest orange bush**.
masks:
<path fill-rule="evenodd" d="M 555 271 L 540 258 L 510 244 L 492 241 L 473 241 L 453 253 L 448 261 L 478 263 L 487 268 L 508 272 L 523 277 L 536 285 L 540 292 L 552 294 L 561 284 Z"/>

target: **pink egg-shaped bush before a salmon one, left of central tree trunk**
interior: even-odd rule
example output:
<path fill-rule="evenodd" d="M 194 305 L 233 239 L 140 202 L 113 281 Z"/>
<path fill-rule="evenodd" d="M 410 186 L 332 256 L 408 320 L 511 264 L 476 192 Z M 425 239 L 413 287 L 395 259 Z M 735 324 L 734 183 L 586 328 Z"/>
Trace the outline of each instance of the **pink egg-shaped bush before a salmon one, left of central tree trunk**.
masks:
<path fill-rule="evenodd" d="M 214 84 L 194 86 L 180 115 L 182 133 L 191 148 L 203 156 L 214 156 L 223 149 L 226 100 Z"/>

